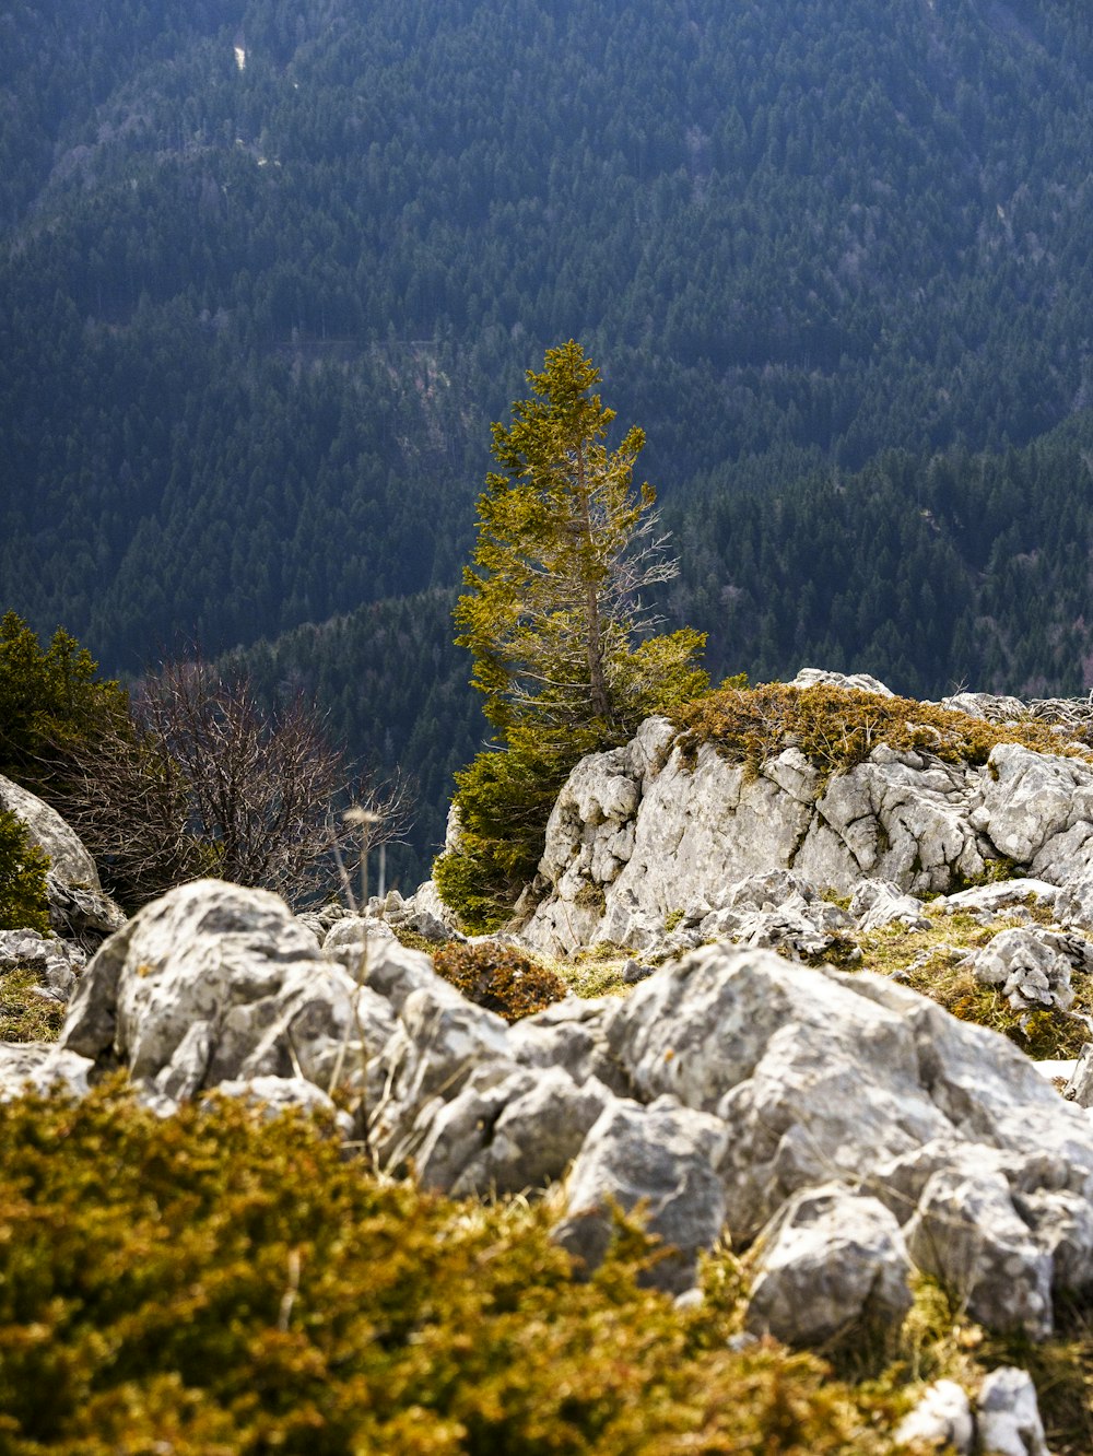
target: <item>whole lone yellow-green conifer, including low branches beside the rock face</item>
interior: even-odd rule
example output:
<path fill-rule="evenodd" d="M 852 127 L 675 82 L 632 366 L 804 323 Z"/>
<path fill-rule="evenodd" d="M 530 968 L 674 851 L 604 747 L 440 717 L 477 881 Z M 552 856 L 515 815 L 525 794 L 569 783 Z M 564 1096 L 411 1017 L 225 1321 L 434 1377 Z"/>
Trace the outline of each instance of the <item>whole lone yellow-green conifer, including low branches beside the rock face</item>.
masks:
<path fill-rule="evenodd" d="M 678 569 L 653 488 L 635 488 L 645 435 L 632 427 L 607 448 L 614 411 L 572 339 L 527 379 L 534 395 L 514 403 L 511 425 L 493 425 L 502 469 L 486 476 L 456 606 L 456 641 L 473 654 L 495 743 L 456 775 L 460 842 L 434 875 L 470 929 L 509 917 L 576 760 L 707 686 L 704 635 L 658 633 L 642 597 Z"/>

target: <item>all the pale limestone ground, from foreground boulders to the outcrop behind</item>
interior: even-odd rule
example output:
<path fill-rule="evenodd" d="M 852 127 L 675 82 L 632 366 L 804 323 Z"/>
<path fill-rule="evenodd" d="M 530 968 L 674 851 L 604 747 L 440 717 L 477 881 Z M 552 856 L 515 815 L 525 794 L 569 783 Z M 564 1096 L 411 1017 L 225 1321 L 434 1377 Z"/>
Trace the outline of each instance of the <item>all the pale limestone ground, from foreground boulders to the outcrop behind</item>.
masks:
<path fill-rule="evenodd" d="M 536 1015 L 409 948 L 457 935 L 429 887 L 294 917 L 202 881 L 86 967 L 9 932 L 9 1035 L 16 999 L 36 1021 L 0 1079 L 79 1096 L 122 1069 L 164 1117 L 211 1089 L 322 1107 L 445 1194 L 560 1190 L 555 1238 L 588 1268 L 611 1208 L 640 1208 L 683 1305 L 710 1251 L 745 1257 L 741 1338 L 898 1329 L 929 1281 L 1045 1347 L 1093 1293 L 1092 863 L 1081 756 L 879 743 L 821 773 L 790 745 L 748 773 L 652 721 L 552 815 L 509 943 L 571 994 Z M 1014 1367 L 908 1420 L 921 1449 L 1046 1450 Z"/>

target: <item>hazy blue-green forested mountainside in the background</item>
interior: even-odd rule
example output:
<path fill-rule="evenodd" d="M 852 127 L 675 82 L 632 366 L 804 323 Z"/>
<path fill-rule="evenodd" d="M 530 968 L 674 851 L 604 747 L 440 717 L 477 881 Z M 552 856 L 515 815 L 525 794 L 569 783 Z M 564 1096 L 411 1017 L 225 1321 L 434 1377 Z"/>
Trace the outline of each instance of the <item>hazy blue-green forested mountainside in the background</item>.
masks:
<path fill-rule="evenodd" d="M 0 607 L 314 692 L 419 866 L 489 424 L 578 338 L 715 676 L 1086 690 L 1090 156 L 1074 0 L 13 0 Z"/>

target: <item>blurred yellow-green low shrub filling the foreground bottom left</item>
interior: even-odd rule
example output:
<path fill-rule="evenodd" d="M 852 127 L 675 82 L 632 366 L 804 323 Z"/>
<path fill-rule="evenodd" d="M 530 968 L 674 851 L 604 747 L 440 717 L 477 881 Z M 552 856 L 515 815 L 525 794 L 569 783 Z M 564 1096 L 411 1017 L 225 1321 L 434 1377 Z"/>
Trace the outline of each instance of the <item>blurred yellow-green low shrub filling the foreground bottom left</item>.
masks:
<path fill-rule="evenodd" d="M 879 1456 L 894 1406 L 729 1299 L 591 1278 L 549 1208 L 377 1182 L 303 1118 L 160 1120 L 116 1086 L 0 1105 L 0 1443 L 12 1456 L 684 1450 Z"/>

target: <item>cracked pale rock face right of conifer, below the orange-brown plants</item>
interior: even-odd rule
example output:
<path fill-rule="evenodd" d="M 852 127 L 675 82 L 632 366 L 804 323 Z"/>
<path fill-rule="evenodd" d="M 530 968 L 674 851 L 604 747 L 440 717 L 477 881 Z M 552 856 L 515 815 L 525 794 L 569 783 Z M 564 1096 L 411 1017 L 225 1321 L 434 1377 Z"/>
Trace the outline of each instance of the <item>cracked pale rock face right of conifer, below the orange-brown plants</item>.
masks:
<path fill-rule="evenodd" d="M 684 751 L 672 725 L 653 718 L 632 743 L 573 769 L 547 824 L 538 903 L 520 929 L 556 955 L 598 942 L 672 951 L 680 925 L 690 943 L 745 939 L 726 916 L 731 890 L 771 872 L 792 872 L 814 894 L 860 897 L 862 882 L 876 881 L 879 898 L 898 904 L 1017 866 L 1084 903 L 1092 865 L 1086 760 L 998 744 L 972 767 L 881 744 L 825 776 L 787 747 L 752 773 L 712 744 Z"/>

